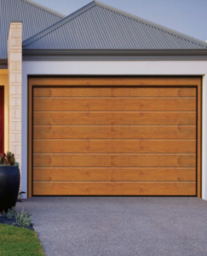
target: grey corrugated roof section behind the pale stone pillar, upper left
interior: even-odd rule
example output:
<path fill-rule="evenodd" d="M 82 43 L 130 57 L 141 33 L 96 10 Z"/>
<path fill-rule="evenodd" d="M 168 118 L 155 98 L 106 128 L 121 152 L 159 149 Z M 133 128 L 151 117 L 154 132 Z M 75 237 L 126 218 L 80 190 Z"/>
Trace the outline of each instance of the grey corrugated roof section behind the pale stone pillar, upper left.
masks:
<path fill-rule="evenodd" d="M 7 38 L 10 21 L 23 23 L 23 40 L 31 38 L 65 15 L 28 0 L 0 0 L 0 59 L 7 58 Z"/>

